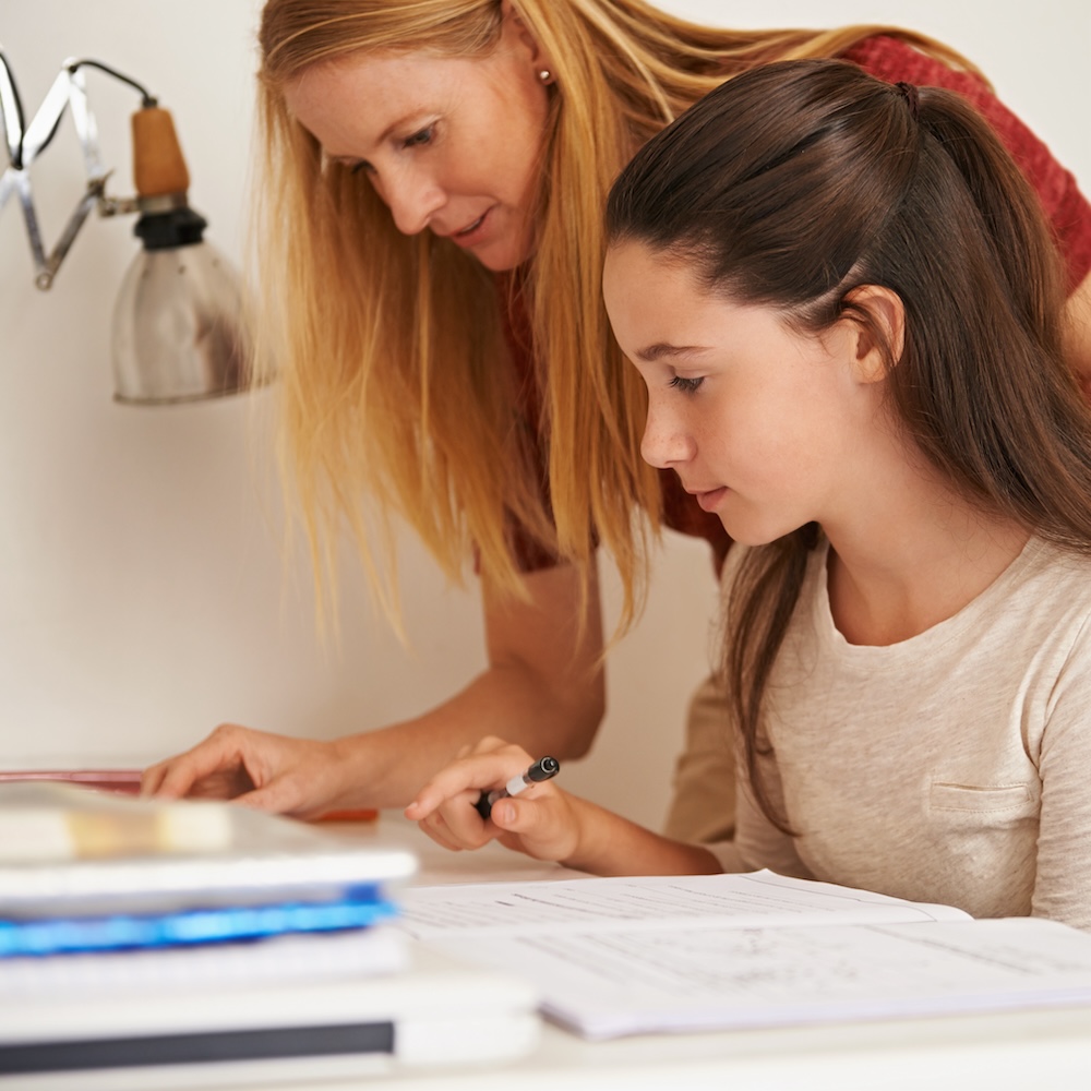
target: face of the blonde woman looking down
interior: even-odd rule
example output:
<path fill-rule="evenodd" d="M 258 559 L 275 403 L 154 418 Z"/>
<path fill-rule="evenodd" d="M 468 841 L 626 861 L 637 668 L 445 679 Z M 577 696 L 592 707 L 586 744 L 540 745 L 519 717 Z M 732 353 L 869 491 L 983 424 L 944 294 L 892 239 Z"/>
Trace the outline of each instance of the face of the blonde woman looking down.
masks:
<path fill-rule="evenodd" d="M 368 176 L 405 235 L 449 238 L 490 269 L 533 244 L 548 64 L 508 12 L 485 57 L 358 53 L 321 62 L 285 93 L 332 160 Z"/>

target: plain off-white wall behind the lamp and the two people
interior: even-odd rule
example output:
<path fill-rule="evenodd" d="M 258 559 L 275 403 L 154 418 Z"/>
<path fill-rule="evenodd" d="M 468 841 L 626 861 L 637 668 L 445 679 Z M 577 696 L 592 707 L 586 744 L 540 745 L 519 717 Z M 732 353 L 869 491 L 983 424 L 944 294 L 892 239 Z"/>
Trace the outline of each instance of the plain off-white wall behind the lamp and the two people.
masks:
<path fill-rule="evenodd" d="M 667 7 L 666 0 L 663 0 Z M 671 0 L 736 25 L 901 23 L 979 62 L 1091 188 L 1091 5 L 1039 0 Z M 209 238 L 239 253 L 251 122 L 252 0 L 0 0 L 0 43 L 28 116 L 61 62 L 106 61 L 173 112 Z M 131 192 L 135 96 L 88 72 L 115 194 Z M 34 168 L 46 241 L 83 187 L 70 121 Z M 135 409 L 110 400 L 109 314 L 132 220 L 85 225 L 48 293 L 13 204 L 0 217 L 0 768 L 141 763 L 232 719 L 314 736 L 379 727 L 482 661 L 473 589 L 448 591 L 415 543 L 407 652 L 347 579 L 343 640 L 314 637 L 305 568 L 284 570 L 261 413 L 268 395 Z M 613 656 L 610 711 L 565 781 L 657 823 L 682 708 L 705 673 L 714 603 L 704 547 L 670 538 L 639 630 Z"/>

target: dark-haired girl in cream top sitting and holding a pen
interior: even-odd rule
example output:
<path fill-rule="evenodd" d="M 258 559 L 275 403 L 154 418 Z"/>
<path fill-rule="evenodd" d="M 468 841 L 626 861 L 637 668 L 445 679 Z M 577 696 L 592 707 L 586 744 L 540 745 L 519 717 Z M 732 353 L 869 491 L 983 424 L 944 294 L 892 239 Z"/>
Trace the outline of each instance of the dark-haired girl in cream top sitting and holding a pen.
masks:
<path fill-rule="evenodd" d="M 406 814 L 601 874 L 776 871 L 1091 927 L 1091 413 L 1026 181 L 957 95 L 837 61 L 732 80 L 609 203 L 643 452 L 724 572 L 739 836 L 672 841 L 554 783 Z"/>

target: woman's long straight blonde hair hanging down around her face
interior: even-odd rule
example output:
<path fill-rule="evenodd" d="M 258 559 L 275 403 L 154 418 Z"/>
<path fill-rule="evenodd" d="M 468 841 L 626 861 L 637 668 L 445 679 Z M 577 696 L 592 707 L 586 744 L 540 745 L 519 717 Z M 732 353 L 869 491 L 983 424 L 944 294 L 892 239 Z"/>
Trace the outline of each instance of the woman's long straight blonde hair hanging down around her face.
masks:
<path fill-rule="evenodd" d="M 367 178 L 325 161 L 284 101 L 304 69 L 351 53 L 484 55 L 501 33 L 502 0 L 268 0 L 257 365 L 280 373 L 286 480 L 320 586 L 344 521 L 394 608 L 396 584 L 382 577 L 394 568 L 396 513 L 448 577 L 460 578 L 472 543 L 482 576 L 518 595 L 517 525 L 584 572 L 600 542 L 621 577 L 624 630 L 643 600 L 660 493 L 640 458 L 644 386 L 600 299 L 610 184 L 655 133 L 755 65 L 835 56 L 875 34 L 967 65 L 890 27 L 717 29 L 643 0 L 511 0 L 511 9 L 555 76 L 537 237 L 523 271 L 543 448 L 518 423 L 495 276 L 428 231 L 398 233 Z"/>

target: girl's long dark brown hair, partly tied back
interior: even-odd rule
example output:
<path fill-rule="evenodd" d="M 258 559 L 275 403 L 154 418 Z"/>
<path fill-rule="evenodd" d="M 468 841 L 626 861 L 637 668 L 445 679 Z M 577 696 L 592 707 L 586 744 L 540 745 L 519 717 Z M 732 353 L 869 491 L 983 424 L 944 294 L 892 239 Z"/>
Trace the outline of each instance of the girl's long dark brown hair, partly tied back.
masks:
<path fill-rule="evenodd" d="M 878 336 L 853 292 L 897 292 L 907 332 L 888 385 L 906 434 L 972 504 L 1091 554 L 1091 415 L 1060 349 L 1059 254 L 1018 167 L 958 95 L 839 61 L 748 72 L 637 154 L 608 230 L 802 331 L 851 315 Z M 726 616 L 747 774 L 782 829 L 760 776 L 762 700 L 817 541 L 812 524 L 750 550 Z"/>

